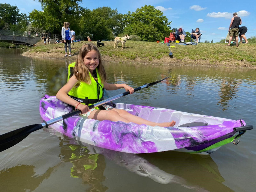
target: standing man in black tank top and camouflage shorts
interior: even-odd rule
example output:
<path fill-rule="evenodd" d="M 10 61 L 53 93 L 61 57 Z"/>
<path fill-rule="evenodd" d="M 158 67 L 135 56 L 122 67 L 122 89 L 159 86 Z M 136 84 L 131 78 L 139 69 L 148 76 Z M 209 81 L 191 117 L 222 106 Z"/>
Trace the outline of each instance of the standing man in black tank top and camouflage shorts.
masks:
<path fill-rule="evenodd" d="M 238 31 L 239 31 L 239 25 L 242 24 L 242 20 L 239 16 L 237 16 L 237 13 L 233 13 L 233 18 L 231 19 L 228 31 L 229 31 L 229 41 L 226 46 L 230 46 L 230 43 L 233 39 L 233 36 L 236 37 L 236 47 L 238 47 Z"/>

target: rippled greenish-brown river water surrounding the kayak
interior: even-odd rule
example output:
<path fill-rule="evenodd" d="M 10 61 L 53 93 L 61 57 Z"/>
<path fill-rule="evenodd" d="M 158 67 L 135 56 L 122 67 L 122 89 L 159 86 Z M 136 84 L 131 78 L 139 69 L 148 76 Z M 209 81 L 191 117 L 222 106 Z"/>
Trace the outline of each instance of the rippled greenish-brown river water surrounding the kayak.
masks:
<path fill-rule="evenodd" d="M 23 57 L 21 51 L 0 52 L 0 134 L 41 123 L 39 101 L 57 93 L 71 62 Z M 203 156 L 126 154 L 44 128 L 0 152 L 0 191 L 255 191 L 255 70 L 120 63 L 105 68 L 108 82 L 134 88 L 172 76 L 117 102 L 241 118 L 254 129 L 238 145 Z"/>

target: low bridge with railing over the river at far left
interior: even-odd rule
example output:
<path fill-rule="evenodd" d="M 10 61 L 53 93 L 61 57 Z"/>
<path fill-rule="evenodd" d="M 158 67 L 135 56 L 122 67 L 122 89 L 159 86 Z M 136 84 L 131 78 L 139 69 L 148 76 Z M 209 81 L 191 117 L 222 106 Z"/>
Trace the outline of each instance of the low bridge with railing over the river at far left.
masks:
<path fill-rule="evenodd" d="M 11 43 L 36 44 L 41 38 L 36 35 L 28 35 L 27 32 L 0 30 L 0 40 Z"/>

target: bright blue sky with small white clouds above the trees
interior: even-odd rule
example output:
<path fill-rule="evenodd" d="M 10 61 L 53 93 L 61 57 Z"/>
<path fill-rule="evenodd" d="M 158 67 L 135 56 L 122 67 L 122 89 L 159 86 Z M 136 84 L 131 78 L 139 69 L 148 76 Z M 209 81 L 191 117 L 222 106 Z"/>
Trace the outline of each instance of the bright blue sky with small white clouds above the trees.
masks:
<path fill-rule="evenodd" d="M 0 3 L 16 5 L 20 13 L 26 13 L 28 16 L 32 10 L 42 11 L 38 0 L 0 0 Z M 242 24 L 248 31 L 245 36 L 250 38 L 256 36 L 256 8 L 254 0 L 225 0 L 217 1 L 178 1 L 178 0 L 83 0 L 81 7 L 93 10 L 98 7 L 110 7 L 117 9 L 118 13 L 125 14 L 128 11 L 134 12 L 137 8 L 144 5 L 152 5 L 163 12 L 171 23 L 171 28 L 184 28 L 187 32 L 198 27 L 202 33 L 201 42 L 205 40 L 219 42 L 226 38 L 233 13 L 237 12 L 241 17 Z M 67 21 L 71 23 L 72 21 Z M 128 34 L 129 35 L 129 34 Z"/>

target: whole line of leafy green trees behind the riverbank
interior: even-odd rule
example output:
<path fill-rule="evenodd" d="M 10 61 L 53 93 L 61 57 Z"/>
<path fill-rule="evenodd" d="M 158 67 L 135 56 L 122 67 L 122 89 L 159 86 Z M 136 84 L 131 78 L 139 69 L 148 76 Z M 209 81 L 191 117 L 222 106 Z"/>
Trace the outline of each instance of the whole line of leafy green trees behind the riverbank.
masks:
<path fill-rule="evenodd" d="M 127 14 L 117 9 L 98 7 L 87 9 L 79 4 L 82 0 L 38 0 L 42 10 L 34 9 L 29 15 L 20 13 L 16 6 L 0 4 L 0 29 L 30 31 L 31 33 L 61 34 L 64 22 L 81 40 L 90 36 L 92 40 L 110 39 L 115 36 L 132 35 L 135 40 L 163 40 L 172 32 L 162 11 L 151 5 L 138 8 Z M 92 35 L 91 35 L 92 34 Z M 78 38 L 77 38 L 78 39 Z"/>

